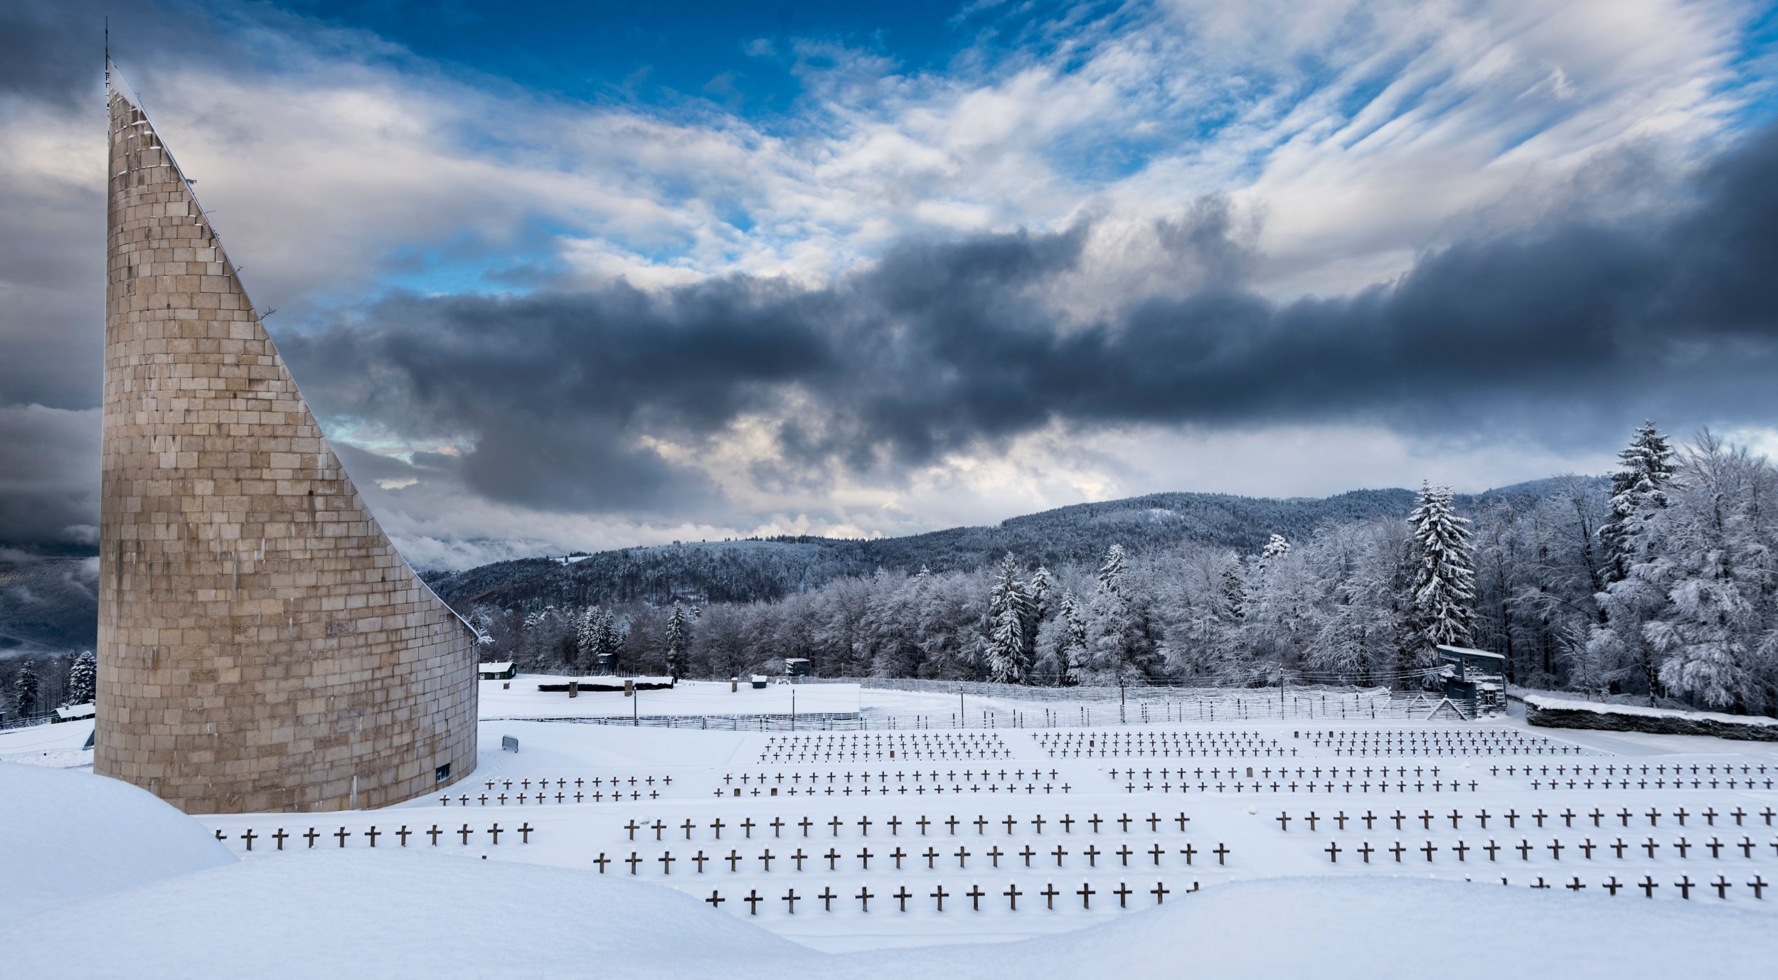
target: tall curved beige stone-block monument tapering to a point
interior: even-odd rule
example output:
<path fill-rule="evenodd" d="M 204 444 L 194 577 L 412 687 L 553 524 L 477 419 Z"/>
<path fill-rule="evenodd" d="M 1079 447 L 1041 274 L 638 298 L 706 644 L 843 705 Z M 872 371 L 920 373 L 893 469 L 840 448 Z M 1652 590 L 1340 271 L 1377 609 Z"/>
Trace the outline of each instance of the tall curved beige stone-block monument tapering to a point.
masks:
<path fill-rule="evenodd" d="M 473 631 L 364 509 L 185 174 L 108 89 L 92 768 L 187 813 L 462 779 Z"/>

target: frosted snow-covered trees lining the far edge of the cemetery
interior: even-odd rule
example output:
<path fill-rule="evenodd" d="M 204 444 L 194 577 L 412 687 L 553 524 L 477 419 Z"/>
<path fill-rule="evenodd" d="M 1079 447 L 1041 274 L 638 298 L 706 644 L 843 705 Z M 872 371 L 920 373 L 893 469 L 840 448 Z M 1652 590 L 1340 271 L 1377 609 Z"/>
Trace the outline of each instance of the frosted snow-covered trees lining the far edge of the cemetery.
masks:
<path fill-rule="evenodd" d="M 1540 496 L 1422 487 L 1408 519 L 1325 519 L 1257 550 L 1184 541 L 1047 566 L 839 576 L 773 601 L 468 612 L 528 671 L 1028 685 L 1412 685 L 1431 644 L 1494 649 L 1531 688 L 1778 711 L 1778 471 L 1703 432 L 1639 429 L 1609 486 Z"/>

